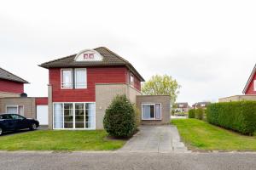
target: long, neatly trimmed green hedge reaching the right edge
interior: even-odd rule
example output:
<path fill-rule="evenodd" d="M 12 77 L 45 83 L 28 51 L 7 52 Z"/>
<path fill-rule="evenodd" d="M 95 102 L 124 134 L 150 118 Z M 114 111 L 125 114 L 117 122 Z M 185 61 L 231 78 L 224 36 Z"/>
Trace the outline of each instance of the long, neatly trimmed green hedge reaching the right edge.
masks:
<path fill-rule="evenodd" d="M 256 130 L 256 101 L 216 103 L 207 107 L 207 122 L 253 135 Z"/>

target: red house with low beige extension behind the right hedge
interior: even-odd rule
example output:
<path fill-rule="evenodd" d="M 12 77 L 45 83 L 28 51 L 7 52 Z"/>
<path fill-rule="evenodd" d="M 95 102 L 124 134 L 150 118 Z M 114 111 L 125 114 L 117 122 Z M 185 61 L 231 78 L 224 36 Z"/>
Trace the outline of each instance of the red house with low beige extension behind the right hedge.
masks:
<path fill-rule="evenodd" d="M 218 99 L 218 102 L 241 101 L 241 100 L 256 100 L 256 65 L 248 78 L 242 95 L 234 95 Z"/>

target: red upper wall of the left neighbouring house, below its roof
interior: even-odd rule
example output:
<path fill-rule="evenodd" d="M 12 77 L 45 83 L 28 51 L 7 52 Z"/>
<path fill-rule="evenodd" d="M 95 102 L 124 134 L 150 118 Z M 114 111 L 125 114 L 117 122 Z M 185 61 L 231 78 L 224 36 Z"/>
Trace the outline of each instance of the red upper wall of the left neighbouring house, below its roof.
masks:
<path fill-rule="evenodd" d="M 22 94 L 24 93 L 24 84 L 22 82 L 12 82 L 9 80 L 0 79 L 0 91 Z"/>

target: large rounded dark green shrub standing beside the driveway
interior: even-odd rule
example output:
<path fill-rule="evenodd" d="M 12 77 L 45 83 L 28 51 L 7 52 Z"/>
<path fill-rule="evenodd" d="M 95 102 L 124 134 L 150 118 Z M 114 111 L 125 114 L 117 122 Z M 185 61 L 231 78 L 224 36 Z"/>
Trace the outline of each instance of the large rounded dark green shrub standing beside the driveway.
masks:
<path fill-rule="evenodd" d="M 135 111 L 125 95 L 117 95 L 108 106 L 103 126 L 113 137 L 130 137 L 135 132 Z"/>

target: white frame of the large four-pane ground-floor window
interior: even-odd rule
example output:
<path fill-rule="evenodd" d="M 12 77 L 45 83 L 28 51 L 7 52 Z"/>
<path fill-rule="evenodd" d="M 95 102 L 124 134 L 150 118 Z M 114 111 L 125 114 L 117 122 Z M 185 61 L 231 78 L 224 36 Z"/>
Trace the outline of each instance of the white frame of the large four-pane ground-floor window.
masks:
<path fill-rule="evenodd" d="M 55 128 L 55 104 L 62 104 L 62 114 L 63 114 L 63 126 L 62 128 Z M 65 128 L 64 127 L 64 104 L 73 104 L 73 128 Z M 75 104 L 84 104 L 84 128 L 75 128 Z M 95 104 L 95 108 L 94 108 L 94 111 L 95 111 L 95 115 L 94 115 L 94 127 L 95 128 L 86 128 L 85 127 L 85 104 Z M 52 114 L 52 127 L 54 130 L 96 130 L 96 102 L 53 102 L 53 105 L 52 105 L 52 109 L 53 109 L 53 114 Z"/>

